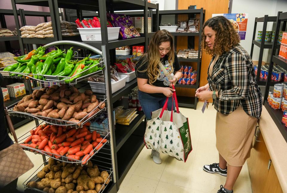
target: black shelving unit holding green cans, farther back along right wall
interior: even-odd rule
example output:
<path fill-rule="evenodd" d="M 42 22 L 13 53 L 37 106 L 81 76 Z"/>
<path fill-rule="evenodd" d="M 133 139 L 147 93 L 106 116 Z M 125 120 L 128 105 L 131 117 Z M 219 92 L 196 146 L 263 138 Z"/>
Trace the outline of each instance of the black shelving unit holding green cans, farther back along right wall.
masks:
<path fill-rule="evenodd" d="M 250 51 L 250 56 L 252 58 L 253 56 L 253 51 L 254 51 L 254 45 L 258 46 L 260 48 L 259 50 L 259 57 L 258 57 L 258 68 L 257 68 L 257 84 L 260 86 L 266 85 L 266 80 L 263 78 L 260 78 L 260 72 L 261 72 L 261 67 L 262 67 L 262 58 L 263 58 L 263 52 L 264 49 L 272 49 L 273 51 L 276 51 L 277 49 L 280 48 L 280 43 L 277 43 L 273 47 L 274 41 L 260 41 L 260 40 L 255 40 L 255 35 L 257 33 L 257 23 L 258 22 L 263 22 L 263 28 L 262 28 L 262 40 L 265 40 L 265 34 L 266 34 L 266 28 L 267 28 L 267 23 L 268 22 L 276 22 L 277 17 L 276 16 L 268 16 L 265 15 L 264 17 L 260 18 L 255 18 L 254 21 L 254 30 L 253 30 L 253 36 L 252 36 L 252 44 L 251 44 L 251 51 Z M 283 24 L 286 26 L 286 22 Z M 274 49 L 274 50 L 273 50 Z M 274 84 L 277 84 L 278 82 L 272 81 L 271 85 L 274 86 Z"/>

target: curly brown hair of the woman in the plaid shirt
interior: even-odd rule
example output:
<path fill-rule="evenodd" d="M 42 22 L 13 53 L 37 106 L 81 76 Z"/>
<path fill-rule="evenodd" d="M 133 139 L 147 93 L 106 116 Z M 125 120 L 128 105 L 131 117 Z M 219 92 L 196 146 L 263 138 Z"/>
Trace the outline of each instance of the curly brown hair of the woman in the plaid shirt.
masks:
<path fill-rule="evenodd" d="M 211 27 L 211 29 L 216 32 L 213 50 L 208 47 L 208 44 L 205 41 L 205 26 Z M 239 42 L 239 35 L 236 33 L 233 25 L 227 18 L 223 16 L 216 16 L 208 19 L 202 28 L 201 47 L 207 54 L 222 55 L 222 53 L 229 51 Z"/>

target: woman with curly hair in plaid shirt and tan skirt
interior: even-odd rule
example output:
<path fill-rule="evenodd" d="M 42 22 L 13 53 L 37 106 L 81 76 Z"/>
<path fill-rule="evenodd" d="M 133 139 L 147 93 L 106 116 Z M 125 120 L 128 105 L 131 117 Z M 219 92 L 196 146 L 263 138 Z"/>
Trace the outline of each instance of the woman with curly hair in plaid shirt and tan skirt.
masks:
<path fill-rule="evenodd" d="M 239 36 L 223 16 L 208 19 L 201 45 L 213 55 L 208 84 L 196 90 L 205 101 L 213 98 L 216 114 L 216 148 L 219 163 L 205 165 L 204 171 L 227 176 L 218 193 L 232 193 L 233 185 L 247 158 L 262 111 L 262 96 L 250 55 L 239 44 Z"/>

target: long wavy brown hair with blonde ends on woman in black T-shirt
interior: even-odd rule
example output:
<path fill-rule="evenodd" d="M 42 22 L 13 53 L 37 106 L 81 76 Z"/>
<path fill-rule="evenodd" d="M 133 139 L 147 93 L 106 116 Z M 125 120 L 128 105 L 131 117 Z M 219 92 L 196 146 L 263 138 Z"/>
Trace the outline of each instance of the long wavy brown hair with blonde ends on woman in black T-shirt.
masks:
<path fill-rule="evenodd" d="M 147 72 L 149 77 L 149 84 L 153 85 L 159 75 L 158 62 L 160 62 L 161 56 L 159 54 L 159 46 L 162 42 L 170 42 L 170 51 L 167 53 L 168 62 L 173 71 L 173 62 L 174 62 L 174 45 L 172 35 L 167 30 L 159 30 L 155 32 L 150 40 L 149 49 L 146 53 L 142 55 L 139 61 L 142 61 L 141 65 L 138 67 L 141 69 L 141 66 L 147 62 L 147 68 L 138 72 Z"/>

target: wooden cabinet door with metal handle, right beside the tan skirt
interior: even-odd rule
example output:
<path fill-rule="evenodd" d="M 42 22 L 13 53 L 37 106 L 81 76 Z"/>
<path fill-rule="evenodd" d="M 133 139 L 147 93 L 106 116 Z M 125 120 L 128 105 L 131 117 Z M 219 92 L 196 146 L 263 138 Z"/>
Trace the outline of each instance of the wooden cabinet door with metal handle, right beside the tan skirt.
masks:
<path fill-rule="evenodd" d="M 266 183 L 268 177 L 270 156 L 260 131 L 257 132 L 257 140 L 259 141 L 254 141 L 253 143 L 247 164 L 253 193 L 262 193 L 264 192 L 263 185 Z"/>

